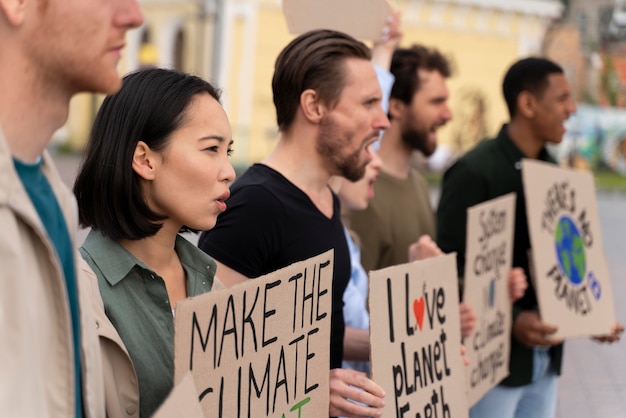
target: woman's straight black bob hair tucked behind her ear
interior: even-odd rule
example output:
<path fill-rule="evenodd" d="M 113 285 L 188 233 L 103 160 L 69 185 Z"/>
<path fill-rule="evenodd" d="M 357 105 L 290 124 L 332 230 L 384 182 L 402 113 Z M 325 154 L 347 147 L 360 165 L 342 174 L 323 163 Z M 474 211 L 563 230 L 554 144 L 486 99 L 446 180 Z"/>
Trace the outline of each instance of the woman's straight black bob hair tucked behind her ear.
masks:
<path fill-rule="evenodd" d="M 80 224 L 112 240 L 152 236 L 167 218 L 148 207 L 140 177 L 132 168 L 139 141 L 159 151 L 184 122 L 198 94 L 219 101 L 207 81 L 177 71 L 151 68 L 131 73 L 121 89 L 104 99 L 74 183 Z"/>

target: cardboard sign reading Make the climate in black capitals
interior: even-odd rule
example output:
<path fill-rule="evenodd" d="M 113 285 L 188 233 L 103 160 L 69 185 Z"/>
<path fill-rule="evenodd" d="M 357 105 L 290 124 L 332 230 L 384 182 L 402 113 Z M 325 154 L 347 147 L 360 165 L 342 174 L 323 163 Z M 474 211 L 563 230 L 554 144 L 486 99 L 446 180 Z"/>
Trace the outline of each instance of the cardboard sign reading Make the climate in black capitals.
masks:
<path fill-rule="evenodd" d="M 175 381 L 205 416 L 328 416 L 333 254 L 178 302 Z"/>

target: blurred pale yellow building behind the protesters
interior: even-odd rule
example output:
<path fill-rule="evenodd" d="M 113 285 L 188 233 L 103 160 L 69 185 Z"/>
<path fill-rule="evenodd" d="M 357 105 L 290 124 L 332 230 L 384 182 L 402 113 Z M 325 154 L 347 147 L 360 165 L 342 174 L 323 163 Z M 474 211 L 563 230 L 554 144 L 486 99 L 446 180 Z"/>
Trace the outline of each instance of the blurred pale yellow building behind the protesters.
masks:
<path fill-rule="evenodd" d="M 233 126 L 234 164 L 264 158 L 278 137 L 271 92 L 274 61 L 294 36 L 288 33 L 281 0 L 141 4 L 146 24 L 128 36 L 125 70 L 142 63 L 143 42 L 144 61 L 215 82 L 224 90 Z M 403 46 L 436 47 L 454 63 L 449 82 L 454 119 L 440 134 L 444 154 L 497 131 L 507 119 L 500 87 L 504 71 L 519 57 L 539 55 L 547 28 L 562 13 L 558 0 L 396 0 L 394 7 L 402 11 Z M 79 100 L 77 107 L 93 112 L 94 100 Z M 76 124 L 84 125 L 81 120 Z M 73 136 L 81 143 L 86 134 Z"/>

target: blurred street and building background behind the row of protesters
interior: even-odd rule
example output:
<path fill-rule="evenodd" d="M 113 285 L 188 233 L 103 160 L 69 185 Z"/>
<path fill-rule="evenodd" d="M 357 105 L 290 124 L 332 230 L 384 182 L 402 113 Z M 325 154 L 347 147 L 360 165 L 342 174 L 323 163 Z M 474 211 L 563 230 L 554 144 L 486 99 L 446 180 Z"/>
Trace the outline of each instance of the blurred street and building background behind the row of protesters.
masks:
<path fill-rule="evenodd" d="M 337 0 L 340 1 L 340 0 Z M 222 103 L 240 173 L 263 159 L 278 137 L 271 77 L 293 38 L 281 0 L 139 0 L 146 23 L 129 33 L 121 72 L 145 66 L 200 75 L 224 90 Z M 604 248 L 618 320 L 626 322 L 626 0 L 395 0 L 401 46 L 436 47 L 454 63 L 453 120 L 438 151 L 415 164 L 431 182 L 436 206 L 441 173 L 508 115 L 501 80 L 520 57 L 542 55 L 565 70 L 578 111 L 551 151 L 563 166 L 590 170 L 598 191 Z M 371 40 L 364 40 L 371 42 Z M 100 95 L 72 100 L 51 150 L 70 185 Z M 97 181 L 97 179 L 94 179 Z M 84 231 L 79 242 L 84 239 Z M 626 342 L 567 341 L 558 418 L 626 418 Z M 532 417 L 530 417 L 532 418 Z"/>

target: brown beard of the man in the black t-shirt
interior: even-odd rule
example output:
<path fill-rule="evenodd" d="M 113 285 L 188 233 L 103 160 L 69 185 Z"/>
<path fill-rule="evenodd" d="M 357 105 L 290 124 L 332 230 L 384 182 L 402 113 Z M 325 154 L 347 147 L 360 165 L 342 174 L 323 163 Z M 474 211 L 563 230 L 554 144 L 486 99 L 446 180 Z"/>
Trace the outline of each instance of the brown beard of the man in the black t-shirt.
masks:
<path fill-rule="evenodd" d="M 361 149 L 346 157 L 341 156 L 341 151 L 350 146 L 350 139 L 351 136 L 344 134 L 332 117 L 326 116 L 320 123 L 316 148 L 324 160 L 334 165 L 340 176 L 350 181 L 358 181 L 365 175 L 367 161 L 359 164 Z"/>

